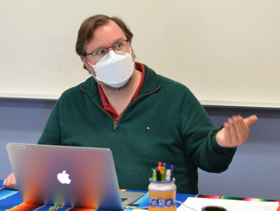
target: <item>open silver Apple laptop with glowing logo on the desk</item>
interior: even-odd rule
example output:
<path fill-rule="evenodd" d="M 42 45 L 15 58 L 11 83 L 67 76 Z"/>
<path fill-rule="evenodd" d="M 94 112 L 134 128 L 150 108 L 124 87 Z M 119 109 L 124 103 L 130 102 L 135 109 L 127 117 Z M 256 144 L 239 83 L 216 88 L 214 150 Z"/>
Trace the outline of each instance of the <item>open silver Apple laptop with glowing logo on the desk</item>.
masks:
<path fill-rule="evenodd" d="M 145 194 L 119 191 L 108 148 L 21 143 L 6 148 L 26 203 L 121 210 Z"/>

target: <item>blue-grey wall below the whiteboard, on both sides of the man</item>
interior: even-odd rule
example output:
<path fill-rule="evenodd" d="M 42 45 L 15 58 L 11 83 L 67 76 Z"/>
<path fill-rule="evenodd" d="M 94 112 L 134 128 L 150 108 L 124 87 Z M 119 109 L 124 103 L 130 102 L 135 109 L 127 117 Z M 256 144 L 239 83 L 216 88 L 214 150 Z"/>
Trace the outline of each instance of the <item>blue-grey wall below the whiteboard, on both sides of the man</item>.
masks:
<path fill-rule="evenodd" d="M 0 179 L 12 172 L 7 142 L 37 143 L 54 101 L 0 99 Z M 280 199 L 280 110 L 205 108 L 219 127 L 231 115 L 256 114 L 250 138 L 238 147 L 229 169 L 221 174 L 199 170 L 199 193 Z"/>

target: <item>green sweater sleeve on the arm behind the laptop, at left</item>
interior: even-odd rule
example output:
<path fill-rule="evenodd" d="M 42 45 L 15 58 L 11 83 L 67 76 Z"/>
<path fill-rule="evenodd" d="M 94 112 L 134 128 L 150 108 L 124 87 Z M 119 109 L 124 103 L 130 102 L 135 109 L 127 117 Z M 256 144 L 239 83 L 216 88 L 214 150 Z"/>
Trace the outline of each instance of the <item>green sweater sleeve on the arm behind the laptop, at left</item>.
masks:
<path fill-rule="evenodd" d="M 62 145 L 60 129 L 60 98 L 54 105 L 47 124 L 37 144 Z"/>

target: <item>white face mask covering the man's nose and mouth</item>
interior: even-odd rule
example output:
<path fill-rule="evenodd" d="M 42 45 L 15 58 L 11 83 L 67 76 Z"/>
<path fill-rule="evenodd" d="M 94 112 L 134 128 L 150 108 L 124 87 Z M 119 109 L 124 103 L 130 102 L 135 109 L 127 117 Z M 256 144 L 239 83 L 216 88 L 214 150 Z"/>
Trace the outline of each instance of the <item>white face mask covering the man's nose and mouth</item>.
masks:
<path fill-rule="evenodd" d="M 131 48 L 130 53 L 124 52 L 122 54 L 116 54 L 114 50 L 111 50 L 107 59 L 91 66 L 95 70 L 96 80 L 102 81 L 111 87 L 122 87 L 128 82 L 134 70 Z"/>

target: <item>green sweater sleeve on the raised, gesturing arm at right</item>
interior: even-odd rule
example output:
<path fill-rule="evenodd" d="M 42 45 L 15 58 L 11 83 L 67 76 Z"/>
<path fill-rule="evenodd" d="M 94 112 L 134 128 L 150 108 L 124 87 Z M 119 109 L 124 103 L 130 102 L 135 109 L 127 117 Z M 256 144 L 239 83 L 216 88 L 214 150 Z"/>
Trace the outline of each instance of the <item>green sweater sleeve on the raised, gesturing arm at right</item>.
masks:
<path fill-rule="evenodd" d="M 187 91 L 180 109 L 181 136 L 192 162 L 204 171 L 225 171 L 236 148 L 223 148 L 216 141 L 221 128 L 215 128 L 206 111 L 193 95 Z"/>

